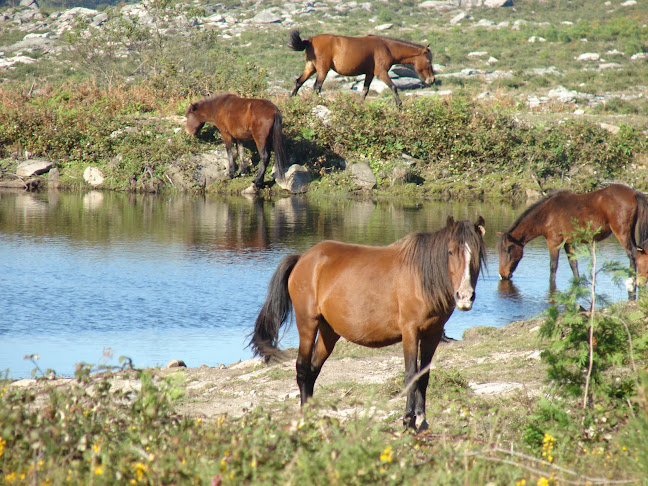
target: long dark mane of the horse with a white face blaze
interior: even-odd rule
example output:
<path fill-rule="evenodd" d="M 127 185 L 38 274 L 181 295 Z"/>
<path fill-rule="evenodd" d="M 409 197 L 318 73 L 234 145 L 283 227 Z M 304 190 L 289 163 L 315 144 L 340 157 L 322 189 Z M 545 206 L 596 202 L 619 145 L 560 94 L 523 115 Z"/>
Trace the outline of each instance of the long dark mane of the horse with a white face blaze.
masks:
<path fill-rule="evenodd" d="M 455 306 L 454 290 L 448 278 L 448 241 L 451 238 L 473 250 L 470 262 L 473 272 L 485 264 L 484 240 L 469 221 L 457 222 L 453 230 L 446 227 L 434 233 L 412 233 L 396 242 L 401 246 L 404 263 L 420 272 L 423 294 L 434 311 L 450 312 Z"/>

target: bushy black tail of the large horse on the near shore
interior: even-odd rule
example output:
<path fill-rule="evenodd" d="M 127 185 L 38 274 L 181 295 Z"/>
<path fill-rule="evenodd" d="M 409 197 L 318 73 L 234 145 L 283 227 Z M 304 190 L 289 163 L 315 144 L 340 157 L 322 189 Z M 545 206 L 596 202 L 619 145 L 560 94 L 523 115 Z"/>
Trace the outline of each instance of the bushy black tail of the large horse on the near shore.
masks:
<path fill-rule="evenodd" d="M 249 346 L 255 356 L 266 362 L 279 354 L 279 328 L 292 312 L 292 301 L 288 293 L 288 277 L 295 268 L 300 255 L 288 255 L 275 270 L 268 285 L 268 296 L 254 324 Z"/>

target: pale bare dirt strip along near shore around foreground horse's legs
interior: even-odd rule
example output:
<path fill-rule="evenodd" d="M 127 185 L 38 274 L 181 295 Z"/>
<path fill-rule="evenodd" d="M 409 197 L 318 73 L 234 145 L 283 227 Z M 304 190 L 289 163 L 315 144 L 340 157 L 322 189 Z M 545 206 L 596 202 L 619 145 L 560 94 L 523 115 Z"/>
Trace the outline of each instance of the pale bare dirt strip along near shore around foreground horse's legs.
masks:
<path fill-rule="evenodd" d="M 432 361 L 432 373 L 452 372 L 467 383 L 472 393 L 505 397 L 515 393 L 537 395 L 545 376 L 540 361 L 541 343 L 537 321 L 516 322 L 501 329 L 473 328 L 459 341 L 442 343 Z M 295 349 L 288 349 L 281 362 L 266 365 L 251 359 L 230 366 L 154 368 L 158 377 L 174 375 L 184 396 L 179 412 L 205 420 L 222 415 L 239 417 L 256 407 L 298 413 L 299 391 L 295 376 Z M 404 359 L 401 345 L 367 349 L 341 341 L 322 368 L 314 396 L 323 400 L 327 415 L 344 419 L 366 408 L 372 396 L 385 415 L 402 414 Z M 11 386 L 69 386 L 71 379 L 37 382 L 19 380 Z M 132 372 L 118 372 L 113 390 L 136 390 L 140 382 Z M 387 395 L 385 395 L 387 394 Z M 384 400 L 382 400 L 384 402 Z M 323 405 L 322 405 L 323 404 Z"/>

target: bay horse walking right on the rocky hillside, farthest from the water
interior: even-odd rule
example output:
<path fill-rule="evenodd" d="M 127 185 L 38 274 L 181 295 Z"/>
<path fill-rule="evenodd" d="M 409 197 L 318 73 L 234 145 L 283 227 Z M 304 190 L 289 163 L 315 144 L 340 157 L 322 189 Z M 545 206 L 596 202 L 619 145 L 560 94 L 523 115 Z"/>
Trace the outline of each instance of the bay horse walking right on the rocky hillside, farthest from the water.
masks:
<path fill-rule="evenodd" d="M 302 40 L 299 31 L 293 30 L 290 32 L 288 47 L 294 51 L 306 51 L 306 67 L 297 78 L 291 96 L 295 96 L 301 85 L 315 72 L 317 79 L 314 89 L 321 93 L 329 69 L 343 76 L 364 74 L 363 100 L 367 97 L 371 81 L 377 76 L 392 90 L 399 109 L 402 103 L 398 97 L 398 90 L 388 74 L 394 64 L 413 64 L 426 85 L 434 83 L 430 48 L 414 42 L 379 35 L 346 37 L 332 34 L 320 34 Z"/>

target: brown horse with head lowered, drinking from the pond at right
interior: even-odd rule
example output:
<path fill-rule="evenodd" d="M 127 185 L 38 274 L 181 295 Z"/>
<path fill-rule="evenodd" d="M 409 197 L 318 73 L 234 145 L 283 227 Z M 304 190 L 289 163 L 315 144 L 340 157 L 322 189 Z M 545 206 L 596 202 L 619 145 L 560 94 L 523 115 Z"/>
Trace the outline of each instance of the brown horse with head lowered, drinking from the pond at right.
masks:
<path fill-rule="evenodd" d="M 524 245 L 544 236 L 550 257 L 550 284 L 556 286 L 558 252 L 564 244 L 574 277 L 578 277 L 578 262 L 573 258 L 574 221 L 577 226 L 590 225 L 596 231 L 595 241 L 601 241 L 614 233 L 630 259 L 633 270 L 640 276 L 648 276 L 648 255 L 639 249 L 635 229 L 639 229 L 639 241 L 648 238 L 648 201 L 646 197 L 623 184 L 610 186 L 585 194 L 559 191 L 528 208 L 497 241 L 500 278 L 510 279 L 522 259 Z M 637 265 L 639 262 L 639 265 Z"/>

